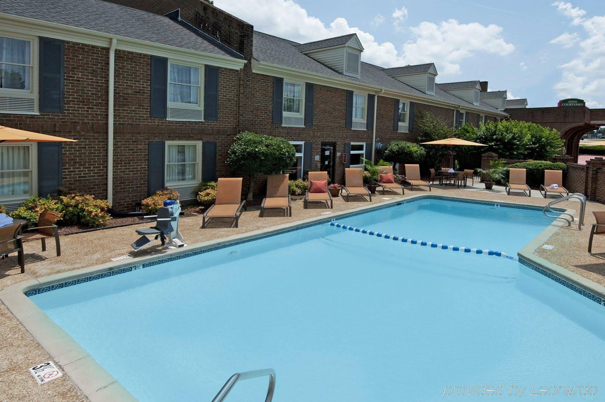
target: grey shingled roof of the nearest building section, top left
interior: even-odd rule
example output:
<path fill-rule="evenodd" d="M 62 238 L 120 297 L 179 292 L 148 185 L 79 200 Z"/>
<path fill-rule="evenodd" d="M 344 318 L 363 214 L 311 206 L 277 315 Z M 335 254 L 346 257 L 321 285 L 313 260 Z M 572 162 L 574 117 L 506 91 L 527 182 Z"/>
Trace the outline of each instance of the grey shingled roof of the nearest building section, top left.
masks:
<path fill-rule="evenodd" d="M 218 56 L 244 57 L 183 21 L 102 0 L 4 0 L 0 13 Z"/>

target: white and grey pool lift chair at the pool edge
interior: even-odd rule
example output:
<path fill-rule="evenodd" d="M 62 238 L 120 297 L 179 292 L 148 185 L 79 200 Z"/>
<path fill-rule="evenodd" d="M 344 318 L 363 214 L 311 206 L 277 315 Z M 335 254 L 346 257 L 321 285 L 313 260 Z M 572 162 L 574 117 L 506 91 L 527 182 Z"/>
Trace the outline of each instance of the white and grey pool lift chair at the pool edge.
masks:
<path fill-rule="evenodd" d="M 162 245 L 168 248 L 185 247 L 183 236 L 178 232 L 178 215 L 181 212 L 181 206 L 178 201 L 164 201 L 164 206 L 157 210 L 157 215 L 143 216 L 151 218 L 155 222 L 154 227 L 137 229 L 137 235 L 141 235 L 131 246 L 134 251 L 139 251 L 147 247 L 157 239 L 162 241 Z M 150 239 L 147 236 L 154 236 Z"/>

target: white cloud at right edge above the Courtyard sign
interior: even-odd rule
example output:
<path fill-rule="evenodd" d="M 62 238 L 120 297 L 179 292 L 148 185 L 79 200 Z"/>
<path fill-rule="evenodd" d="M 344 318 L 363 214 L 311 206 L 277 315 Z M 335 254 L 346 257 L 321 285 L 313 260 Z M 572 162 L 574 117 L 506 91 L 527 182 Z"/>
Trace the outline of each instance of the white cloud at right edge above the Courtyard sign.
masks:
<path fill-rule="evenodd" d="M 605 104 L 605 15 L 585 17 L 586 11 L 561 1 L 552 5 L 564 11 L 572 24 L 580 25 L 578 51 L 574 58 L 560 65 L 561 80 L 554 89 L 561 98 L 580 97 L 587 105 L 603 107 Z M 561 43 L 565 47 L 565 44 Z"/>

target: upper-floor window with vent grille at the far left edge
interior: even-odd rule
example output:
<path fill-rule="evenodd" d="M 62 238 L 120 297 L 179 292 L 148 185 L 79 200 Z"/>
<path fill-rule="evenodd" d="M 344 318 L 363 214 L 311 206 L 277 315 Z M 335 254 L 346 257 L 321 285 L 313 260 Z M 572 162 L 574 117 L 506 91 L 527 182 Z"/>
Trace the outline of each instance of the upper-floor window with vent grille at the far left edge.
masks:
<path fill-rule="evenodd" d="M 0 31 L 0 112 L 36 114 L 38 37 Z"/>

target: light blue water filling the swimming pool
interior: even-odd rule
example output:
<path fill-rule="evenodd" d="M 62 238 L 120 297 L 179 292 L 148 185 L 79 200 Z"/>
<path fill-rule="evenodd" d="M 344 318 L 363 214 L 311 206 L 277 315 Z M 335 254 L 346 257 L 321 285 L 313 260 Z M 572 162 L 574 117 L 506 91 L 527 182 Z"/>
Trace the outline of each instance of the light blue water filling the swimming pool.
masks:
<path fill-rule="evenodd" d="M 424 199 L 339 222 L 516 256 L 552 219 Z M 484 385 L 605 395 L 603 306 L 509 259 L 327 224 L 31 299 L 142 402 L 211 401 L 261 368 L 277 373 L 276 402 L 459 399 L 448 386 Z M 263 401 L 267 382 L 227 401 Z"/>

